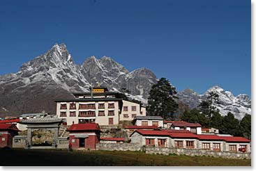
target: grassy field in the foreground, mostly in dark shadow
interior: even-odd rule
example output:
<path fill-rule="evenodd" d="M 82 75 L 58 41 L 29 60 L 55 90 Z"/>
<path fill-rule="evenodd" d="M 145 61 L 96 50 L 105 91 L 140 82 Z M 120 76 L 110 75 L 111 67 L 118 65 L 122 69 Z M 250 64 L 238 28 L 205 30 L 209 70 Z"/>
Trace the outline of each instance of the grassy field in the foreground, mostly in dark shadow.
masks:
<path fill-rule="evenodd" d="M 250 160 L 206 156 L 164 156 L 143 152 L 86 151 L 57 149 L 0 149 L 0 165 L 162 165 L 162 166 L 250 166 Z"/>

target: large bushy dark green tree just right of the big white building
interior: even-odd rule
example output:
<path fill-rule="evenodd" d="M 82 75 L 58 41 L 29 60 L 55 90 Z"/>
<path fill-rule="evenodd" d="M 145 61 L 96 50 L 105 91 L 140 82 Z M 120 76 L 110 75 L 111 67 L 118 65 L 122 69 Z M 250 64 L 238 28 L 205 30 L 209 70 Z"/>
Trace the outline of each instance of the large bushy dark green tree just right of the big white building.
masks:
<path fill-rule="evenodd" d="M 147 113 L 149 115 L 162 116 L 164 119 L 172 119 L 178 108 L 176 103 L 176 90 L 165 78 L 161 78 L 154 84 L 149 92 Z"/>

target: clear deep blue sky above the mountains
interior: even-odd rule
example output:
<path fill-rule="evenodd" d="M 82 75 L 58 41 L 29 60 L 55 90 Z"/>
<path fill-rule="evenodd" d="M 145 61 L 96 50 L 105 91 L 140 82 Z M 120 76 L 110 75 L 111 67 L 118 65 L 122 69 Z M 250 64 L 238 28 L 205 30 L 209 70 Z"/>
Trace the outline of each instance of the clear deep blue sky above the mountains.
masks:
<path fill-rule="evenodd" d="M 177 90 L 250 95 L 250 1 L 0 1 L 0 74 L 65 42 L 75 63 L 110 56 Z"/>

